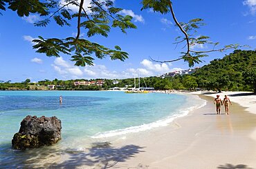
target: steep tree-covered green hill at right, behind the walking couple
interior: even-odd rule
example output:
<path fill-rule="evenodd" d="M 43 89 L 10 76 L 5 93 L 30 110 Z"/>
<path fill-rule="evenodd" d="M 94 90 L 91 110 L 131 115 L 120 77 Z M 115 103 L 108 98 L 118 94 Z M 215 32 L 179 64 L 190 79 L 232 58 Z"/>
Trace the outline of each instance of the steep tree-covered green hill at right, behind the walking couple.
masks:
<path fill-rule="evenodd" d="M 196 71 L 199 88 L 217 90 L 255 90 L 256 51 L 235 50 Z"/>

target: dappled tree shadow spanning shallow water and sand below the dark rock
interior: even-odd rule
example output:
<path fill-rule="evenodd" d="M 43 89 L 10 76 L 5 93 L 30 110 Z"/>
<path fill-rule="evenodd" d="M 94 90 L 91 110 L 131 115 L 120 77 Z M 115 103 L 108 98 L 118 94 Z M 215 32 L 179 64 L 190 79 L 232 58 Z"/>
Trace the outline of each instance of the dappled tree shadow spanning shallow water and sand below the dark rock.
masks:
<path fill-rule="evenodd" d="M 126 145 L 120 148 L 111 143 L 93 143 L 85 151 L 60 150 L 53 146 L 25 151 L 15 151 L 12 157 L 1 159 L 0 168 L 111 168 L 118 162 L 131 159 L 144 152 L 143 147 Z M 12 150 L 13 151 L 13 150 Z M 85 167 L 86 168 L 86 167 Z"/>

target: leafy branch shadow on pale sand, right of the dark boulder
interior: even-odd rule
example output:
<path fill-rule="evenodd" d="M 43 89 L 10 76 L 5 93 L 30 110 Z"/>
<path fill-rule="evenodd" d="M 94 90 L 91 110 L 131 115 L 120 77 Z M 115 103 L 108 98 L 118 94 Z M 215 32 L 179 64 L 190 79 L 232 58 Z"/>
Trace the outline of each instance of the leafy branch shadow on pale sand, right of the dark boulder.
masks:
<path fill-rule="evenodd" d="M 118 162 L 126 161 L 139 152 L 143 147 L 135 145 L 114 148 L 110 143 L 93 143 L 88 152 L 68 152 L 69 158 L 62 163 L 51 163 L 49 168 L 76 168 L 78 166 L 91 166 L 97 168 L 111 168 Z"/>

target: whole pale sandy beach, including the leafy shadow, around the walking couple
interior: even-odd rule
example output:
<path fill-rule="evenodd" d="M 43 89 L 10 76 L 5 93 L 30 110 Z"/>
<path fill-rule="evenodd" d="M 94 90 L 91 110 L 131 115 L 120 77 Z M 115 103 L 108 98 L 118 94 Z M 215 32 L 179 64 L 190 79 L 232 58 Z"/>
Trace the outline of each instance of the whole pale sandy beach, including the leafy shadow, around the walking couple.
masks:
<path fill-rule="evenodd" d="M 175 119 L 169 126 L 108 138 L 86 152 L 46 159 L 46 168 L 256 168 L 256 96 L 230 96 L 230 115 L 216 115 L 216 93 L 192 92 L 206 106 Z M 243 107 L 244 106 L 244 107 Z M 103 141 L 103 140 L 101 140 Z"/>

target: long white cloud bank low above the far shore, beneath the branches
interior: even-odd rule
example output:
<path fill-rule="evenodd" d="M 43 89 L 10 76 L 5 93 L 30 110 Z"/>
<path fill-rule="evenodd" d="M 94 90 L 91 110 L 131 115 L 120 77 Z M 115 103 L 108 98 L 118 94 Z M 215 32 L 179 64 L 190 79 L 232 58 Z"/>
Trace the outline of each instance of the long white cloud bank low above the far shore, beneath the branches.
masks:
<path fill-rule="evenodd" d="M 147 59 L 141 61 L 140 64 L 140 68 L 127 68 L 127 70 L 118 72 L 98 64 L 81 68 L 73 66 L 73 63 L 65 61 L 62 57 L 57 57 L 52 66 L 57 74 L 60 74 L 64 79 L 124 79 L 138 77 L 138 74 L 140 77 L 149 77 L 181 70 L 179 68 L 170 69 L 168 63 L 159 64 Z"/>

